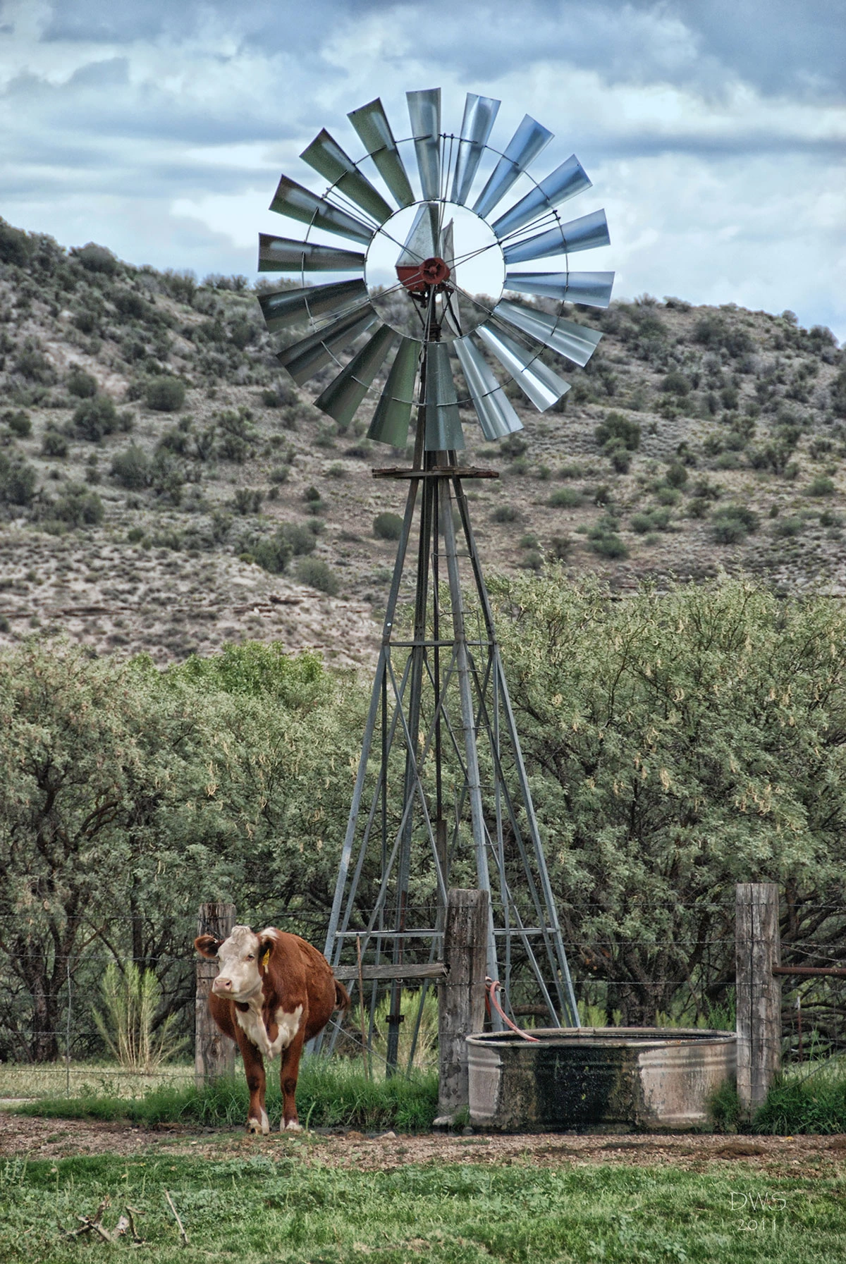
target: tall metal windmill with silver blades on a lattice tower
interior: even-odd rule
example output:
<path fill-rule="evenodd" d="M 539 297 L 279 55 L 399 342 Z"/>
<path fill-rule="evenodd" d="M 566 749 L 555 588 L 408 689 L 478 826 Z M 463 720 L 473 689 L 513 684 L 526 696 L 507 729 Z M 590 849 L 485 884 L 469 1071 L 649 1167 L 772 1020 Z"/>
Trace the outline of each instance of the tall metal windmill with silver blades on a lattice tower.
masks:
<path fill-rule="evenodd" d="M 473 410 L 496 441 L 522 428 L 510 383 L 539 411 L 554 406 L 569 386 L 548 360 L 584 365 L 601 337 L 564 305 L 607 307 L 613 282 L 570 270 L 572 254 L 608 244 L 604 211 L 559 214 L 591 186 L 575 155 L 529 174 L 551 131 L 526 115 L 497 150 L 498 101 L 468 94 L 459 135 L 441 130 L 440 88 L 407 102 L 401 140 L 378 99 L 348 115 L 358 159 L 322 130 L 301 157 L 326 192 L 282 176 L 271 202 L 305 236 L 259 238 L 259 270 L 298 278 L 259 298 L 286 344 L 279 363 L 340 428 L 369 411 L 369 439 L 412 445 L 407 466 L 373 471 L 406 482 L 407 495 L 325 945 L 335 966 L 358 952 L 392 967 L 389 1067 L 398 977 L 438 957 L 457 877 L 489 892 L 487 969 L 506 1012 L 540 997 L 529 1007 L 579 1025 L 464 490 L 498 475 L 462 464 L 460 413 Z M 314 273 L 334 279 L 310 283 Z"/>

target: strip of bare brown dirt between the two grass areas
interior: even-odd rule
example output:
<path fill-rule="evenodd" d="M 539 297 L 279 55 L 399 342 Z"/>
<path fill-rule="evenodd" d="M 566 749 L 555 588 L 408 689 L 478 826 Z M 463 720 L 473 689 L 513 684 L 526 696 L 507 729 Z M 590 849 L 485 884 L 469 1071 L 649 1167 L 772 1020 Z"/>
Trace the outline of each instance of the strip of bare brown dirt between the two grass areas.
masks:
<path fill-rule="evenodd" d="M 81 1154 L 202 1155 L 236 1158 L 300 1154 L 333 1168 L 388 1170 L 406 1163 L 478 1163 L 560 1167 L 567 1164 L 673 1163 L 701 1172 L 711 1164 L 741 1164 L 770 1176 L 832 1176 L 846 1165 L 846 1135 L 716 1136 L 520 1134 L 500 1136 L 427 1134 L 365 1136 L 358 1131 L 278 1133 L 248 1136 L 240 1129 L 196 1129 L 178 1124 L 139 1129 L 128 1124 L 28 1119 L 0 1111 L 0 1157 L 61 1159 Z"/>

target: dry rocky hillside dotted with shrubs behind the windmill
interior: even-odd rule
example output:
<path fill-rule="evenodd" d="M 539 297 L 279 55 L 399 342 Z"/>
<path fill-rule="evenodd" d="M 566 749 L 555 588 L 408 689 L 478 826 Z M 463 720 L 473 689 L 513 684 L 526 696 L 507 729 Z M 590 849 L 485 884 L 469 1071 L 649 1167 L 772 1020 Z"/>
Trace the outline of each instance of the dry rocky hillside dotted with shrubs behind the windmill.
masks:
<path fill-rule="evenodd" d="M 66 632 L 157 661 L 242 637 L 368 664 L 401 454 L 291 386 L 244 278 L 134 268 L 0 221 L 0 640 Z M 488 570 L 560 561 L 626 589 L 750 571 L 846 592 L 846 359 L 790 312 L 642 296 L 560 412 L 468 459 Z M 511 394 L 511 388 L 510 388 Z"/>

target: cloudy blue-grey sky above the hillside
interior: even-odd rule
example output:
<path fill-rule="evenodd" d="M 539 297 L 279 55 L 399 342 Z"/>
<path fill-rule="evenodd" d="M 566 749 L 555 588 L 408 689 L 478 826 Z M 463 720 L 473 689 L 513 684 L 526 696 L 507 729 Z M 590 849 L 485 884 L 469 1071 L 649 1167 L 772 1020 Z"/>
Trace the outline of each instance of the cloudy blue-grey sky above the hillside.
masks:
<path fill-rule="evenodd" d="M 575 152 L 615 295 L 794 311 L 846 339 L 846 0 L 0 0 L 0 215 L 157 268 L 255 276 L 281 172 L 381 96 L 502 101 Z M 569 209 L 568 209 L 569 210 Z M 340 243 L 339 243 L 340 244 Z M 582 262 L 584 260 L 584 262 Z"/>

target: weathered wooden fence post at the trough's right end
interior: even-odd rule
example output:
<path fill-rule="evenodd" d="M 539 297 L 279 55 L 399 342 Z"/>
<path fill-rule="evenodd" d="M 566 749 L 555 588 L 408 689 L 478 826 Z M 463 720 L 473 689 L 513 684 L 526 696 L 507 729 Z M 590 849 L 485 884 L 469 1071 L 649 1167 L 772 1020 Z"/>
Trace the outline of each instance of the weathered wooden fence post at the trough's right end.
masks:
<path fill-rule="evenodd" d="M 739 882 L 735 958 L 737 980 L 737 1096 L 746 1114 L 766 1097 L 782 1062 L 779 889 Z"/>

